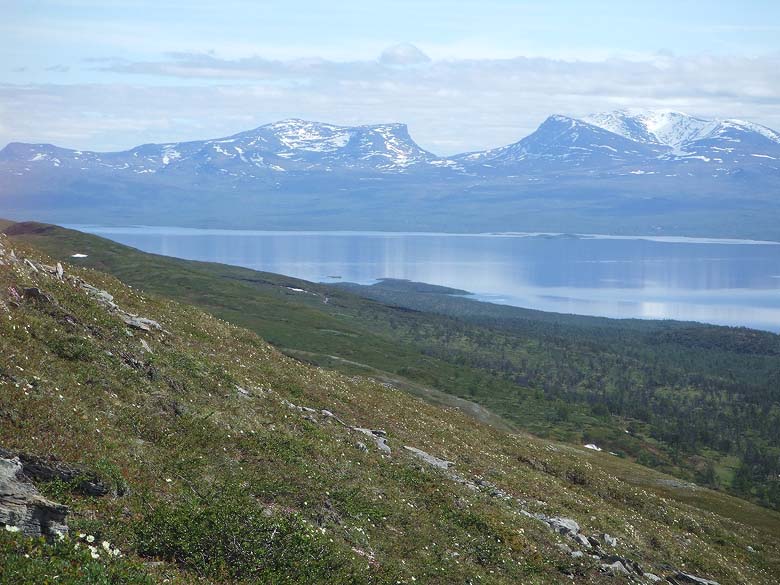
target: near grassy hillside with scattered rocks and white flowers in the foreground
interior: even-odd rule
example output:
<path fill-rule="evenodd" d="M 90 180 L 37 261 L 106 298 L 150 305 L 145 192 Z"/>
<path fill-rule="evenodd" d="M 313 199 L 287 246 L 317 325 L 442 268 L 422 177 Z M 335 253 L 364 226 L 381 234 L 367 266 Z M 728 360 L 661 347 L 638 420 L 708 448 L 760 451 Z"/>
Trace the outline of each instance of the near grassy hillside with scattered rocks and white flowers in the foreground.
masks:
<path fill-rule="evenodd" d="M 27 244 L 0 236 L 0 246 L 0 447 L 81 465 L 109 489 L 38 482 L 70 506 L 71 536 L 47 545 L 0 532 L 0 582 L 649 583 L 646 572 L 680 582 L 684 571 L 760 584 L 780 574 L 772 512 L 303 364 L 192 306 L 67 263 L 58 278 Z M 129 326 L 130 314 L 159 329 Z M 385 431 L 390 453 L 355 427 Z M 593 543 L 550 530 L 558 516 Z M 89 536 L 122 556 L 76 548 Z M 616 563 L 630 574 L 612 576 Z"/>

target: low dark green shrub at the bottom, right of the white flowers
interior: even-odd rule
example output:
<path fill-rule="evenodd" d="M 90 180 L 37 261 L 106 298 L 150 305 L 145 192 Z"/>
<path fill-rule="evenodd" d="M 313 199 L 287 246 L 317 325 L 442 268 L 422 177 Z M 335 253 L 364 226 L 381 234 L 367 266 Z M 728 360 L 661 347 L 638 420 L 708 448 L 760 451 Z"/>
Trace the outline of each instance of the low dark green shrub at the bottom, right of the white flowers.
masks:
<path fill-rule="evenodd" d="M 352 555 L 295 513 L 269 513 L 238 488 L 158 503 L 136 530 L 142 555 L 214 579 L 363 583 Z"/>

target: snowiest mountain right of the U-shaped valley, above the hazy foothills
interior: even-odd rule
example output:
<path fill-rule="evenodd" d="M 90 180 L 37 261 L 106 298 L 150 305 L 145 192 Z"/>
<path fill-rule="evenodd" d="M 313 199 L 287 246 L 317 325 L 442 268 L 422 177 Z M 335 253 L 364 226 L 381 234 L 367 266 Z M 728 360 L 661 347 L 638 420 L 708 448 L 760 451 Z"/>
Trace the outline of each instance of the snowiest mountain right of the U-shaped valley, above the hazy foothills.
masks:
<path fill-rule="evenodd" d="M 582 119 L 554 115 L 522 140 L 452 157 L 472 173 L 586 171 L 592 174 L 717 178 L 780 167 L 780 134 L 740 120 L 671 111 L 620 110 Z"/>

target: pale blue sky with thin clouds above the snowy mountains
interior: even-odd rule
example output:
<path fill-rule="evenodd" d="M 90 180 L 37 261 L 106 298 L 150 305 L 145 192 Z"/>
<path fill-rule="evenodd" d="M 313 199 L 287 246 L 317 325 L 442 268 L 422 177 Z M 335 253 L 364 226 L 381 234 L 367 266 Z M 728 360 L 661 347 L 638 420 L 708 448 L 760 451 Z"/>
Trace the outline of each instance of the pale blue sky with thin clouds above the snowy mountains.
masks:
<path fill-rule="evenodd" d="M 551 114 L 780 129 L 780 2 L 0 0 L 0 147 L 121 150 L 284 119 L 404 122 L 437 154 Z"/>

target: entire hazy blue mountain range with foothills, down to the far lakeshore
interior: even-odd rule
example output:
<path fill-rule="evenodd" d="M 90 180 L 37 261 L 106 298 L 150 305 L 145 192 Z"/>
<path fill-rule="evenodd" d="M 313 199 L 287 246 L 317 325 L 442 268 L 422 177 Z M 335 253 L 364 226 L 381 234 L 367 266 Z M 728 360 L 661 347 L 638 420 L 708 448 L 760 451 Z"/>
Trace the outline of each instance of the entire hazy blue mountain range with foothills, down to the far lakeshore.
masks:
<path fill-rule="evenodd" d="M 0 212 L 69 223 L 780 239 L 780 134 L 670 111 L 554 115 L 450 157 L 403 124 L 297 119 L 112 153 L 12 143 L 0 177 Z"/>

